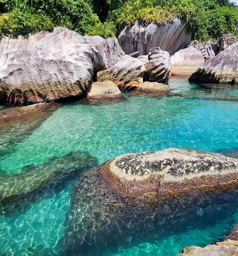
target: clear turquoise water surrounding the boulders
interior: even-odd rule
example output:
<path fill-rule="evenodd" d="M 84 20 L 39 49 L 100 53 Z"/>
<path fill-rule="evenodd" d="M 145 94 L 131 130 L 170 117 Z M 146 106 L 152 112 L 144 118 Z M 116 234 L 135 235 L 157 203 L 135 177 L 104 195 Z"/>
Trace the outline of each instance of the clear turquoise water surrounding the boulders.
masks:
<path fill-rule="evenodd" d="M 168 147 L 208 152 L 238 148 L 238 87 L 204 89 L 185 78 L 172 78 L 169 84 L 172 92 L 163 97 L 127 94 L 127 99 L 110 103 L 81 100 L 64 104 L 22 141 L 8 145 L 0 158 L 0 170 L 21 172 L 27 165 L 74 151 L 88 151 L 102 163 L 128 152 Z M 6 145 L 0 147 L 5 150 Z M 69 184 L 30 207 L 1 215 L 0 251 L 14 256 L 57 255 L 71 192 Z M 176 256 L 185 246 L 205 246 L 221 240 L 238 222 L 238 209 L 230 204 L 226 210 L 213 222 L 189 223 L 186 231 L 175 227 L 174 234 L 153 243 L 142 240 L 138 246 L 105 254 Z"/>

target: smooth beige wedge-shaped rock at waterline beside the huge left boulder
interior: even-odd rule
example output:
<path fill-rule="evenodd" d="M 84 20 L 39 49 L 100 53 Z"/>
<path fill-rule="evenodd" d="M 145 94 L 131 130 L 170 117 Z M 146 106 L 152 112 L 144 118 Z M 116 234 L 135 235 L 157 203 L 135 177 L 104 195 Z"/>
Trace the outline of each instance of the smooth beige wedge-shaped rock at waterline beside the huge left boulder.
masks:
<path fill-rule="evenodd" d="M 101 98 L 123 98 L 121 91 L 117 85 L 111 81 L 92 83 L 88 90 L 87 99 Z"/>

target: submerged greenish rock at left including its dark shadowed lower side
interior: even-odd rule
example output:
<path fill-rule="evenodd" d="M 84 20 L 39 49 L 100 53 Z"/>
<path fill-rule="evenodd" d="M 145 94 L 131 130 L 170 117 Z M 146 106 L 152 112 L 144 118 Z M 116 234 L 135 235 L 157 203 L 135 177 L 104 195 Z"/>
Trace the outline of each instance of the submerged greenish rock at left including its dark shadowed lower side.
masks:
<path fill-rule="evenodd" d="M 58 194 L 71 181 L 98 166 L 89 152 L 71 152 L 54 157 L 39 166 L 28 166 L 20 173 L 0 176 L 0 214 L 20 213 L 32 203 Z"/>

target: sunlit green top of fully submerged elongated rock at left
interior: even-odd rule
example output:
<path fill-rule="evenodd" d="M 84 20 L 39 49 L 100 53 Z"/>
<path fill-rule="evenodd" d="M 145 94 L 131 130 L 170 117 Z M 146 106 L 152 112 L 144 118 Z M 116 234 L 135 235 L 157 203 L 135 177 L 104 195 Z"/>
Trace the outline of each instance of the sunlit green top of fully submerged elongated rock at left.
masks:
<path fill-rule="evenodd" d="M 30 166 L 24 172 L 0 176 L 0 205 L 17 202 L 19 199 L 53 187 L 75 175 L 95 167 L 98 162 L 88 152 L 72 152 L 65 157 L 52 158 L 39 166 Z"/>

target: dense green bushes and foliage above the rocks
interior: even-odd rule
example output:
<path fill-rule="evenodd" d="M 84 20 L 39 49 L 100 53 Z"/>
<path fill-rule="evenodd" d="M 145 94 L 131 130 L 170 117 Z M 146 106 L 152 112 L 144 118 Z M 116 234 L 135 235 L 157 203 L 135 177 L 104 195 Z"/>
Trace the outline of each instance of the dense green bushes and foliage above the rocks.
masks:
<path fill-rule="evenodd" d="M 0 34 L 11 37 L 54 26 L 110 37 L 135 21 L 163 26 L 177 17 L 194 40 L 238 34 L 238 7 L 229 0 L 0 0 L 0 14 Z"/>

